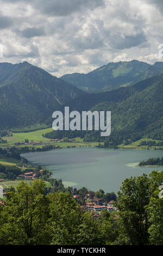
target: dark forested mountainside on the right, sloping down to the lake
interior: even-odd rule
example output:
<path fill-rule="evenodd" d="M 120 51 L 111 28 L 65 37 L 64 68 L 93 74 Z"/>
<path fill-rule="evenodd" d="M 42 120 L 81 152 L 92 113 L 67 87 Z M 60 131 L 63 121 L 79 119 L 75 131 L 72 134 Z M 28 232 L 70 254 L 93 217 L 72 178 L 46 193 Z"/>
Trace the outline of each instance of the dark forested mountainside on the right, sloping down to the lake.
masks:
<path fill-rule="evenodd" d="M 79 96 L 71 100 L 68 106 L 70 111 L 111 111 L 111 135 L 106 139 L 113 144 L 121 144 L 123 141 L 133 142 L 142 137 L 162 141 L 162 83 L 163 74 L 130 87 Z M 105 139 L 100 136 L 100 131 L 70 131 L 70 135 L 67 131 L 53 131 L 44 136 L 56 138 L 61 135 L 71 138 L 80 135 L 85 141 L 101 142 L 101 139 L 103 141 Z"/>

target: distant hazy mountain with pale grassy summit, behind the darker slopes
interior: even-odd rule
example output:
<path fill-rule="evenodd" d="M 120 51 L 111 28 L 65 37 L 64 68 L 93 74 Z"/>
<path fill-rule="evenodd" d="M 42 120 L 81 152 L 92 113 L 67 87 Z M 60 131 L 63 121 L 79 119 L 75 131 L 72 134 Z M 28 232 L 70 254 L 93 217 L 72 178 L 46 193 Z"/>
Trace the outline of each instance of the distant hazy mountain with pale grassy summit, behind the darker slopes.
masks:
<path fill-rule="evenodd" d="M 67 74 L 60 78 L 86 92 L 103 92 L 130 86 L 159 75 L 162 71 L 162 62 L 149 65 L 138 60 L 131 60 L 130 62 L 111 62 L 87 74 Z"/>

